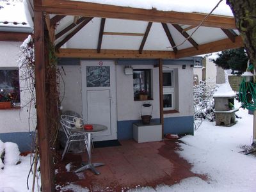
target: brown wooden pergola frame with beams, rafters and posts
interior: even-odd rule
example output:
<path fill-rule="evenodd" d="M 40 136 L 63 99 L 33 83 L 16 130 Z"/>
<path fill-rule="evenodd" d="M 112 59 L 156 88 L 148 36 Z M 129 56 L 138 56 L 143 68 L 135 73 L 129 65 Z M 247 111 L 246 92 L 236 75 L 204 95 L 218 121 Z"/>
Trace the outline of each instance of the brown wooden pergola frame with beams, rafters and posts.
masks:
<path fill-rule="evenodd" d="M 49 14 L 54 14 L 50 17 Z M 54 28 L 61 19 L 67 15 L 80 16 L 77 20 L 67 26 L 59 33 L 55 34 Z M 45 47 L 45 34 L 49 35 L 52 42 L 56 42 L 56 51 L 59 57 L 67 58 L 157 58 L 159 59 L 159 74 L 162 73 L 161 59 L 176 59 L 186 56 L 195 56 L 198 54 L 205 54 L 209 52 L 222 51 L 225 49 L 232 49 L 236 47 L 243 47 L 241 36 L 234 33 L 236 29 L 233 17 L 225 17 L 220 15 L 209 15 L 202 23 L 202 26 L 211 28 L 220 28 L 227 38 L 216 40 L 205 44 L 197 44 L 193 37 L 189 38 L 188 31 L 190 28 L 195 28 L 205 18 L 202 13 L 182 13 L 182 12 L 163 12 L 158 10 L 144 10 L 140 8 L 129 8 L 122 6 L 113 6 L 107 4 L 86 3 L 80 1 L 65 1 L 65 0 L 34 0 L 34 23 L 35 23 L 35 77 L 36 77 L 36 110 L 37 110 L 37 129 L 38 142 L 40 147 L 40 166 L 42 175 L 42 191 L 54 191 L 54 179 L 52 158 L 49 149 L 49 138 L 47 136 L 47 96 L 45 94 L 45 67 L 49 61 L 45 58 L 47 55 L 47 47 Z M 61 48 L 72 36 L 86 26 L 93 17 L 101 18 L 99 40 L 97 42 L 97 49 L 63 49 Z M 106 35 L 104 32 L 105 20 L 111 19 L 127 19 L 127 20 L 141 20 L 148 22 L 145 33 L 140 34 L 143 40 L 138 50 L 114 50 L 101 49 L 102 36 Z M 152 22 L 159 22 L 162 24 L 164 32 L 170 41 L 173 49 L 172 51 L 147 51 L 143 50 L 147 40 L 148 33 L 152 26 Z M 180 32 L 184 38 L 188 38 L 192 47 L 186 49 L 177 49 L 166 24 L 172 26 Z M 189 25 L 184 29 L 180 25 Z M 76 27 L 76 28 L 75 28 Z M 72 29 L 72 30 L 71 30 Z M 69 31 L 69 32 L 68 32 Z M 70 32 L 71 31 L 71 32 Z M 46 32 L 46 33 L 45 33 Z M 104 34 L 105 33 L 105 34 Z M 109 34 L 107 34 L 109 35 Z M 111 35 L 111 34 L 110 34 Z M 113 34 L 112 34 L 113 35 Z M 114 34 L 114 35 L 134 35 L 134 34 Z M 137 34 L 138 35 L 138 34 Z M 59 41 L 60 36 L 65 36 Z M 161 88 L 162 80 L 159 79 Z M 163 84 L 162 84 L 163 86 Z M 160 95 L 161 93 L 160 89 Z M 160 99 L 161 100 L 161 99 Z M 163 102 L 160 102 L 163 105 Z M 163 111 L 162 111 L 163 113 Z M 163 114 L 161 115 L 163 116 Z"/>

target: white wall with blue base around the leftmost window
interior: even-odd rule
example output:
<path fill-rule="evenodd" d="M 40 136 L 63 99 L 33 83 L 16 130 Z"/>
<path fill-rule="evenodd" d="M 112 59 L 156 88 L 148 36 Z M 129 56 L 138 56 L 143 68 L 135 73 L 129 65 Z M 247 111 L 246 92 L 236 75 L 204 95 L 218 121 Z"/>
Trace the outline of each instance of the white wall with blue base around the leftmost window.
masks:
<path fill-rule="evenodd" d="M 20 45 L 22 42 L 1 42 L 0 43 L 0 69 L 18 68 L 17 61 L 20 56 Z M 22 74 L 19 70 L 19 75 Z M 24 81 L 20 81 L 20 90 L 24 87 Z M 30 130 L 29 113 L 26 106 L 30 96 L 26 91 L 20 92 L 20 108 L 0 110 L 0 140 L 12 141 L 19 145 L 20 151 L 30 150 L 31 135 L 35 131 L 36 111 L 31 108 Z M 31 132 L 30 132 L 31 131 Z"/>

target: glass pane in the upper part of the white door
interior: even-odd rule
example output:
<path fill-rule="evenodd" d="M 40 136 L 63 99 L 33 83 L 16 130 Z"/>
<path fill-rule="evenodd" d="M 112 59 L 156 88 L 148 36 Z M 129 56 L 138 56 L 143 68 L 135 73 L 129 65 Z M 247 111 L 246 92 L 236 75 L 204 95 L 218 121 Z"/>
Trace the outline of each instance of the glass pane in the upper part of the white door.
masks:
<path fill-rule="evenodd" d="M 109 66 L 86 67 L 86 84 L 87 87 L 106 87 L 110 86 Z"/>

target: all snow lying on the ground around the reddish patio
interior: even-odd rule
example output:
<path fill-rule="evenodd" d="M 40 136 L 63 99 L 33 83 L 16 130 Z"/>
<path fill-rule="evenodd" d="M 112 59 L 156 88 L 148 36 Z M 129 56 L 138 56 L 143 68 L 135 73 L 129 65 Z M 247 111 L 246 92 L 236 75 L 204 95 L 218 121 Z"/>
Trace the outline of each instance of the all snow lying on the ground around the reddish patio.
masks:
<path fill-rule="evenodd" d="M 235 103 L 236 108 L 239 103 Z M 173 186 L 158 186 L 131 189 L 130 191 L 256 191 L 256 157 L 241 154 L 244 145 L 252 143 L 253 116 L 248 110 L 239 109 L 237 124 L 232 127 L 218 127 L 215 122 L 204 121 L 194 136 L 181 138 L 180 156 L 193 164 L 192 171 L 205 174 L 208 180 L 190 177 Z M 28 191 L 26 177 L 30 168 L 30 157 L 21 157 L 18 165 L 5 165 L 0 170 L 0 191 Z M 68 167 L 67 167 L 68 168 Z M 30 179 L 31 186 L 31 179 Z M 75 184 L 58 186 L 74 191 L 88 191 Z"/>

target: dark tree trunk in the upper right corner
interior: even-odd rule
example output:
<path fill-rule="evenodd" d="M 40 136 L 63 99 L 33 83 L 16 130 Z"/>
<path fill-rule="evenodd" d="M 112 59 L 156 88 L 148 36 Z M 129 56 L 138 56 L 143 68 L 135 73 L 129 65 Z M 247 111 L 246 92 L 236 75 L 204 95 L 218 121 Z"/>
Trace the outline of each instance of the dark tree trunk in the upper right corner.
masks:
<path fill-rule="evenodd" d="M 256 68 L 256 1 L 227 0 L 241 33 L 250 63 Z"/>

